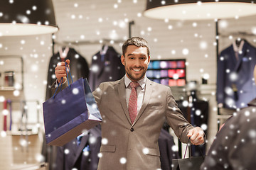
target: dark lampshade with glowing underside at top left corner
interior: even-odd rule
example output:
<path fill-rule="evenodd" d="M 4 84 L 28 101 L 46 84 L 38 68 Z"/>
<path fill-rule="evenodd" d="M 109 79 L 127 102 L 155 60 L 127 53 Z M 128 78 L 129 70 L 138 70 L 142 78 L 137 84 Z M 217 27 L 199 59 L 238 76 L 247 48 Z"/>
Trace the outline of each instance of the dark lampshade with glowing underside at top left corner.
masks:
<path fill-rule="evenodd" d="M 0 36 L 55 33 L 51 0 L 1 0 Z"/>

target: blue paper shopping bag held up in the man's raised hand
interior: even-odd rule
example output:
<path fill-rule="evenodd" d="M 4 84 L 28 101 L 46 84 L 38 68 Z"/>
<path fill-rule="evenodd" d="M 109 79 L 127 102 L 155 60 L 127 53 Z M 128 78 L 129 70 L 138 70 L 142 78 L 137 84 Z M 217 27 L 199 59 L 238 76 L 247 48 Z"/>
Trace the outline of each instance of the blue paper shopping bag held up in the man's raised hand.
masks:
<path fill-rule="evenodd" d="M 68 64 L 66 69 L 67 66 Z M 68 84 L 67 88 L 43 103 L 43 118 L 46 144 L 55 146 L 65 145 L 82 132 L 102 122 L 88 81 L 82 78 Z"/>

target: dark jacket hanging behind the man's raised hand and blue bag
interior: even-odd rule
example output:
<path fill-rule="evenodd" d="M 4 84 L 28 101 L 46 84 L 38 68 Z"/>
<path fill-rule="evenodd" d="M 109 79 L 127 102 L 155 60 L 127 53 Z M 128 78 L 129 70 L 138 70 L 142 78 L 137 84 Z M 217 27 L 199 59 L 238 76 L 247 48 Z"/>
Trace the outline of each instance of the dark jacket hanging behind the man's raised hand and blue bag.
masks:
<path fill-rule="evenodd" d="M 80 77 L 87 78 L 89 76 L 89 67 L 88 64 L 82 55 L 76 52 L 73 48 L 68 50 L 68 53 L 65 59 L 60 58 L 60 52 L 53 55 L 50 58 L 49 66 L 48 66 L 48 77 L 47 77 L 47 85 L 46 85 L 46 100 L 53 96 L 54 91 L 51 91 L 50 86 L 55 82 L 55 67 L 58 62 L 65 62 L 65 60 L 70 60 L 70 72 L 73 75 L 73 81 L 78 80 Z M 71 83 L 71 79 L 70 79 Z M 46 162 L 49 164 L 49 169 L 53 169 L 55 167 L 55 159 L 57 154 L 57 147 L 55 146 L 47 146 L 46 139 L 43 138 L 43 148 L 42 154 L 46 159 Z"/>

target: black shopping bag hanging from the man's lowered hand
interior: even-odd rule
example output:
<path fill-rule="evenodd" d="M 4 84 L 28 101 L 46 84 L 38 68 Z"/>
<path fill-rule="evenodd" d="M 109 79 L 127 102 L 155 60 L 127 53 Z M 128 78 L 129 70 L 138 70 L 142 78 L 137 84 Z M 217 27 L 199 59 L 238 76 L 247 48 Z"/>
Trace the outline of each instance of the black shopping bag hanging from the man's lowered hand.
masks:
<path fill-rule="evenodd" d="M 189 139 L 188 139 L 189 142 Z M 188 144 L 186 145 L 186 151 L 188 149 Z M 172 160 L 172 170 L 200 170 L 201 164 L 203 164 L 204 156 L 201 152 L 201 157 L 191 157 L 185 158 L 186 151 L 183 159 L 173 159 Z"/>

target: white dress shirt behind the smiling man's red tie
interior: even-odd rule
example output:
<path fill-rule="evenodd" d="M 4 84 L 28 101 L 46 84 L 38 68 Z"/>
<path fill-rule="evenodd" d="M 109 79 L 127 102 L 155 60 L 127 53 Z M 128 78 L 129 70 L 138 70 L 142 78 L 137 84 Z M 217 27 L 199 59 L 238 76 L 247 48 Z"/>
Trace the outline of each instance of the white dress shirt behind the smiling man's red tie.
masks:
<path fill-rule="evenodd" d="M 127 108 L 129 105 L 129 96 L 132 92 L 131 86 L 129 86 L 129 83 L 132 82 L 127 75 L 125 74 L 124 76 L 124 84 L 125 84 L 125 96 L 126 96 L 126 101 L 127 101 Z M 137 113 L 139 113 L 139 110 L 142 108 L 142 102 L 144 99 L 144 94 L 145 94 L 145 85 L 146 85 L 146 78 L 144 77 L 143 79 L 137 81 L 140 86 L 137 86 Z"/>

